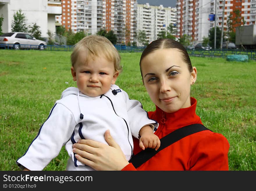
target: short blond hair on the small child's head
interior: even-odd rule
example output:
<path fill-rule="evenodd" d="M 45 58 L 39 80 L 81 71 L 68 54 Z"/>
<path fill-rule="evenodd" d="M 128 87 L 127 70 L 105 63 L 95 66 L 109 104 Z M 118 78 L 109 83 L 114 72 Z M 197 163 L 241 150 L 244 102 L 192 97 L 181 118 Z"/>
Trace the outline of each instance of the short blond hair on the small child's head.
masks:
<path fill-rule="evenodd" d="M 117 72 L 122 71 L 120 55 L 114 45 L 104 36 L 88 35 L 74 45 L 71 54 L 71 64 L 74 67 L 79 53 L 86 53 L 87 59 L 94 59 L 95 56 L 103 56 L 106 60 L 113 61 Z M 86 62 L 86 60 L 85 60 Z"/>

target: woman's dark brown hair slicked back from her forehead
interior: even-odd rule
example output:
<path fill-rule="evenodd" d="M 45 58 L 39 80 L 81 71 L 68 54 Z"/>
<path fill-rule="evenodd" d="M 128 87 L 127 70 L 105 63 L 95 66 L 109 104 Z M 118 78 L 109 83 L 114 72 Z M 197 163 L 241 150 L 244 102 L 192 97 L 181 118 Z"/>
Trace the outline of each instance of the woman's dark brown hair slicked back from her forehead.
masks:
<path fill-rule="evenodd" d="M 183 56 L 182 59 L 188 65 L 189 71 L 190 72 L 193 71 L 189 54 L 186 51 L 185 47 L 179 42 L 177 42 L 176 40 L 169 39 L 169 38 L 159 38 L 157 40 L 152 41 L 150 44 L 148 44 L 141 54 L 141 60 L 148 54 L 159 49 L 177 49 L 182 53 L 182 56 Z M 140 60 L 140 68 L 141 68 L 141 60 Z M 141 76 L 142 76 L 142 72 L 141 72 Z"/>

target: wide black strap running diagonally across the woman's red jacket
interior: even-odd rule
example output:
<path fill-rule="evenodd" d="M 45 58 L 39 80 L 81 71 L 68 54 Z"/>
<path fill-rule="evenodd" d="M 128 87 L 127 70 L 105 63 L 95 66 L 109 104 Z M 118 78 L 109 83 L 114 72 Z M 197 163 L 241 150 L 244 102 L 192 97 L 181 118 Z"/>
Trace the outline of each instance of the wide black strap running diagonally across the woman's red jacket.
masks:
<path fill-rule="evenodd" d="M 132 158 L 129 160 L 129 163 L 132 163 L 134 165 L 134 167 L 137 168 L 140 165 L 142 165 L 143 163 L 145 163 L 147 160 L 149 160 L 156 153 L 158 153 L 162 149 L 168 147 L 169 145 L 173 144 L 174 142 L 176 142 L 188 135 L 197 133 L 199 131 L 204 131 L 204 130 L 209 130 L 209 129 L 206 128 L 205 126 L 203 126 L 202 124 L 192 124 L 192 125 L 188 125 L 188 126 L 179 128 L 160 139 L 161 144 L 157 151 L 155 149 L 147 148 L 147 149 L 139 152 L 138 154 L 132 156 Z"/>

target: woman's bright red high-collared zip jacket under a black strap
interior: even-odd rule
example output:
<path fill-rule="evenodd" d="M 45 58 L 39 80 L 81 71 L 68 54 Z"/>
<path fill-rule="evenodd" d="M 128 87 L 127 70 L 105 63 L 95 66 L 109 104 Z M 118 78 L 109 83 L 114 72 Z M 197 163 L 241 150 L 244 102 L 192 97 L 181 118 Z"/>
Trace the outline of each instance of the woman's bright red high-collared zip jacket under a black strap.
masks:
<path fill-rule="evenodd" d="M 182 108 L 174 113 L 166 113 L 156 106 L 156 111 L 148 112 L 149 118 L 159 123 L 155 134 L 161 139 L 183 126 L 202 124 L 195 108 L 196 99 L 192 97 L 189 108 Z M 137 170 L 228 170 L 229 147 L 223 135 L 209 130 L 200 131 L 159 151 Z M 139 151 L 139 141 L 134 139 L 134 154 Z M 129 163 L 122 170 L 136 169 Z"/>

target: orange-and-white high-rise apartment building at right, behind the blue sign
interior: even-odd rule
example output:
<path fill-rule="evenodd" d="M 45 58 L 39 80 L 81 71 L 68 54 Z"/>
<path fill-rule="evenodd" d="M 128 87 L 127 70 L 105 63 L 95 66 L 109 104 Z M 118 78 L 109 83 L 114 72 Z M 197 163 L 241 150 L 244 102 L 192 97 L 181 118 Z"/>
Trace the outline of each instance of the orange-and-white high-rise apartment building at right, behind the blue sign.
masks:
<path fill-rule="evenodd" d="M 215 2 L 217 9 L 215 11 Z M 209 21 L 209 14 L 216 14 L 216 26 L 222 27 L 222 15 L 224 8 L 224 27 L 227 25 L 227 17 L 234 10 L 238 9 L 241 19 L 244 18 L 245 25 L 255 24 L 256 0 L 177 0 L 177 34 L 191 36 L 192 42 L 202 42 L 203 37 L 208 37 L 210 28 L 214 27 L 215 22 Z M 235 26 L 234 26 L 235 27 Z"/>

